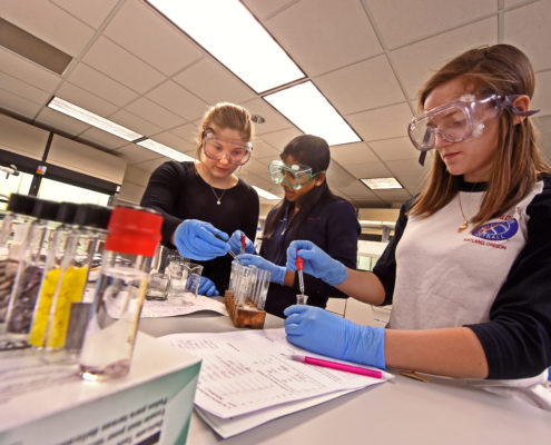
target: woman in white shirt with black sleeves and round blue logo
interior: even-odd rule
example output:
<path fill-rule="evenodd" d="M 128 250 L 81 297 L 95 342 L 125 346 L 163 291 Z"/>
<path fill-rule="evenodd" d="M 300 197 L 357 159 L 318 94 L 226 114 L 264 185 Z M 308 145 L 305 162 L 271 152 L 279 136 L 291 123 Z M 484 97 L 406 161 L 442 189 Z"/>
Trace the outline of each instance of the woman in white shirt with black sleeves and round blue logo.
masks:
<path fill-rule="evenodd" d="M 420 92 L 407 129 L 434 149 L 422 192 L 400 212 L 373 273 L 309 241 L 287 250 L 354 298 L 392 303 L 387 328 L 307 306 L 285 310 L 291 343 L 331 357 L 465 378 L 551 409 L 551 168 L 530 118 L 534 72 L 510 44 L 469 50 Z M 317 310 L 316 310 L 317 309 Z"/>

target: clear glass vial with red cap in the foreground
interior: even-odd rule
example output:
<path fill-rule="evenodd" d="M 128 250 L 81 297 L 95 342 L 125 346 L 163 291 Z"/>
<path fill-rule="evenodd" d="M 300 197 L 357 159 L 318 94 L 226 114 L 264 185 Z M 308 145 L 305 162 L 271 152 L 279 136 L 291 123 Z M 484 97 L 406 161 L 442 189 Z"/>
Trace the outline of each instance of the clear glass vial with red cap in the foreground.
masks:
<path fill-rule="evenodd" d="M 79 357 L 80 376 L 86 380 L 121 377 L 130 369 L 161 224 L 155 210 L 137 206 L 112 210 Z"/>

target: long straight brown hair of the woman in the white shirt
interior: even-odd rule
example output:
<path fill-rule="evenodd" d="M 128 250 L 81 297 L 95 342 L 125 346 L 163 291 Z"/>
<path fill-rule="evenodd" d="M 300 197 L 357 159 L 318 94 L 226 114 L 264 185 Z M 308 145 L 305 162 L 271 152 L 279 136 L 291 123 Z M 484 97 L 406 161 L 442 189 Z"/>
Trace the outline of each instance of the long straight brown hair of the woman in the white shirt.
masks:
<path fill-rule="evenodd" d="M 453 79 L 473 86 L 479 98 L 491 93 L 527 95 L 532 98 L 535 83 L 532 65 L 518 48 L 494 44 L 471 49 L 444 65 L 426 81 L 419 93 L 420 109 L 423 109 L 431 91 Z M 516 125 L 513 118 L 509 109 L 499 117 L 496 158 L 480 210 L 471 218 L 475 228 L 518 202 L 530 191 L 538 174 L 550 170 L 537 145 L 531 118 Z M 433 215 L 453 199 L 461 181 L 461 176 L 450 175 L 440 156 L 434 156 L 429 181 L 409 214 Z"/>

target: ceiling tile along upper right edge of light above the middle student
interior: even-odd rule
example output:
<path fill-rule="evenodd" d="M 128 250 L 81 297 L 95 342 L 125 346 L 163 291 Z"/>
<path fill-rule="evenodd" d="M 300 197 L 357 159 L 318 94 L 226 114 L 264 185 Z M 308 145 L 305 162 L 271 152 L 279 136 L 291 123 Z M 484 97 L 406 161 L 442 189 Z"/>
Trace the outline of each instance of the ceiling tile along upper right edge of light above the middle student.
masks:
<path fill-rule="evenodd" d="M 344 115 L 405 100 L 385 55 L 321 76 L 314 83 Z"/>

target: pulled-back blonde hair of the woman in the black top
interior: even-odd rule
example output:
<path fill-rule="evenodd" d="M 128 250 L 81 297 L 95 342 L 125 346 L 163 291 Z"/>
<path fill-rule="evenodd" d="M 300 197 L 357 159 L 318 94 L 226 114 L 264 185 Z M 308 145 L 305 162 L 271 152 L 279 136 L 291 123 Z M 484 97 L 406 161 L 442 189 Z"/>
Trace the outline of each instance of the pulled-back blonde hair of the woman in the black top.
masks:
<path fill-rule="evenodd" d="M 205 131 L 213 126 L 219 129 L 230 128 L 239 131 L 244 142 L 253 139 L 253 121 L 250 113 L 245 108 L 230 102 L 216 103 L 208 109 L 199 126 L 196 137 L 197 159 L 200 159 Z"/>

